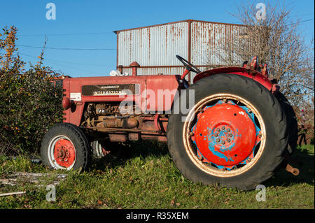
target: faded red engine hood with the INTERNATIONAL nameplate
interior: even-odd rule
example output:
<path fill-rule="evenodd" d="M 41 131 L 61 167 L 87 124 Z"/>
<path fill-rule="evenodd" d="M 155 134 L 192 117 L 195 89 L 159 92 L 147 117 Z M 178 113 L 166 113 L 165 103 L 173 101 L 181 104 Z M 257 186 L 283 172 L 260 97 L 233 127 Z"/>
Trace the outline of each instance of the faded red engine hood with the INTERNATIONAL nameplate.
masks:
<path fill-rule="evenodd" d="M 69 97 L 76 104 L 75 109 L 71 108 L 64 112 L 66 122 L 80 124 L 85 103 L 92 101 L 132 99 L 141 106 L 141 110 L 146 112 L 170 110 L 174 95 L 180 86 L 180 77 L 180 75 L 139 75 L 66 78 L 63 82 L 64 96 Z M 124 88 L 129 89 L 130 94 L 126 94 Z"/>

